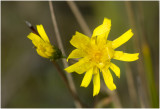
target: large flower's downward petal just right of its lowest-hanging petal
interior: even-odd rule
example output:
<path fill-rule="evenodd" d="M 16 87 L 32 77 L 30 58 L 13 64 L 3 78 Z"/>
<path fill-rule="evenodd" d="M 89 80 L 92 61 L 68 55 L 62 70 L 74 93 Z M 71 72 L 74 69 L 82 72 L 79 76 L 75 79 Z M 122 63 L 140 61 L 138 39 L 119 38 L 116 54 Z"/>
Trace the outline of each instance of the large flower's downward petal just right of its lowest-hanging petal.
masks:
<path fill-rule="evenodd" d="M 110 90 L 116 89 L 116 86 L 113 83 L 113 77 L 112 77 L 108 67 L 105 67 L 104 69 L 102 69 L 102 74 L 103 74 L 104 82 L 107 85 L 107 87 Z"/>

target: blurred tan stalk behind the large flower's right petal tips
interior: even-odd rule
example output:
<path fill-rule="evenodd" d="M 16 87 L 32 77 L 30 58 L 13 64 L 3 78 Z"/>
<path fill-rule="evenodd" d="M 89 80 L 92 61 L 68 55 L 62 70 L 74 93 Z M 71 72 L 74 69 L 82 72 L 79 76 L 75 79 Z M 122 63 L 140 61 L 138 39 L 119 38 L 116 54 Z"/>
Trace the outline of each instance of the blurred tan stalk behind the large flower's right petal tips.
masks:
<path fill-rule="evenodd" d="M 128 14 L 128 18 L 129 18 L 129 22 L 130 22 L 130 25 L 131 27 L 133 28 L 133 31 L 134 31 L 134 39 L 133 39 L 133 45 L 134 45 L 134 49 L 135 51 L 138 51 L 140 53 L 139 55 L 139 60 L 137 61 L 137 70 L 138 70 L 138 78 L 139 79 L 139 83 L 141 83 L 141 86 L 138 85 L 138 88 L 141 89 L 139 91 L 142 91 L 142 95 L 139 96 L 139 97 L 142 97 L 140 98 L 140 103 L 141 103 L 141 107 L 149 107 L 149 101 L 148 101 L 148 88 L 147 88 L 147 84 L 146 84 L 146 75 L 144 73 L 144 66 L 143 66 L 143 63 L 142 63 L 142 55 L 141 55 L 141 46 L 139 44 L 139 40 L 138 40 L 138 33 L 137 33 L 137 30 L 136 30 L 136 26 L 135 26 L 135 20 L 134 20 L 134 14 L 133 14 L 133 9 L 132 9 L 132 6 L 131 6 L 131 2 L 130 1 L 126 1 L 125 2 L 125 5 L 126 5 L 126 10 L 127 10 L 127 14 Z M 139 93 L 140 94 L 140 93 Z"/>

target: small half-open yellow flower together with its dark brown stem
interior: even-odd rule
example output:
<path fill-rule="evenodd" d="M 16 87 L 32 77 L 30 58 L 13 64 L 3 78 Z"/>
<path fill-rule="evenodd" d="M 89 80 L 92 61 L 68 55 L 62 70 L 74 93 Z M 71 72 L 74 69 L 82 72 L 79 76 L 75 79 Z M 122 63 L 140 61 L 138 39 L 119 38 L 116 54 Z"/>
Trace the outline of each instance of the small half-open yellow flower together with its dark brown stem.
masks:
<path fill-rule="evenodd" d="M 70 91 L 74 100 L 80 103 L 78 107 L 84 107 L 83 102 L 79 99 L 78 95 L 75 93 L 75 90 L 73 89 L 74 87 L 73 84 L 71 87 L 70 81 L 67 79 L 63 70 L 60 68 L 59 64 L 57 64 L 56 62 L 56 60 L 61 59 L 61 58 L 66 58 L 66 57 L 62 55 L 62 52 L 59 48 L 57 48 L 56 46 L 53 46 L 50 43 L 49 38 L 43 28 L 43 25 L 37 25 L 37 30 L 35 30 L 34 27 L 28 21 L 26 21 L 26 24 L 32 30 L 32 32 L 27 37 L 30 40 L 32 40 L 32 43 L 34 44 L 37 53 L 41 57 L 50 59 L 50 61 L 52 61 L 54 67 L 57 69 L 58 73 L 61 76 L 61 79 L 64 81 L 66 87 Z M 70 78 L 70 80 L 71 79 L 72 78 Z"/>

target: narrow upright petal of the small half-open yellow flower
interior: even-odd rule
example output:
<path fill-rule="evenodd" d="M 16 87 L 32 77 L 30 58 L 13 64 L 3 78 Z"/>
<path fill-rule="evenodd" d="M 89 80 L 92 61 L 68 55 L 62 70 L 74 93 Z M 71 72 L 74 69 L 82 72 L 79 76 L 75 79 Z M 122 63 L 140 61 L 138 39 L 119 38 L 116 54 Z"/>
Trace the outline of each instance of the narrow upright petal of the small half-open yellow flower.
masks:
<path fill-rule="evenodd" d="M 37 31 L 39 33 L 39 35 L 42 37 L 42 39 L 45 41 L 45 42 L 49 42 L 49 39 L 48 39 L 48 36 L 43 28 L 43 25 L 37 25 Z"/>

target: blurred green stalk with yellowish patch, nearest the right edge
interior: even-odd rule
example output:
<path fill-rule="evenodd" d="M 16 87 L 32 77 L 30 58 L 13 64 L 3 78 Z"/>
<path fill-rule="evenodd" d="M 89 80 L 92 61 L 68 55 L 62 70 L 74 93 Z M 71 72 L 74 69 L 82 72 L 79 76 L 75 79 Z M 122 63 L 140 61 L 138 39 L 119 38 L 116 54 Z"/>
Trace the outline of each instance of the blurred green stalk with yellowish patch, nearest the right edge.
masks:
<path fill-rule="evenodd" d="M 140 25 L 140 31 L 141 31 L 141 48 L 142 48 L 142 53 L 143 53 L 143 58 L 144 58 L 144 65 L 146 69 L 146 75 L 147 75 L 147 82 L 148 82 L 148 87 L 150 91 L 150 99 L 151 99 L 151 104 L 152 107 L 158 108 L 158 94 L 155 86 L 155 79 L 154 79 L 154 71 L 153 71 L 153 64 L 152 64 L 152 58 L 151 58 L 151 50 L 149 43 L 146 39 L 147 37 L 147 32 L 145 29 L 144 25 L 144 12 L 142 8 L 141 2 L 138 2 L 138 17 L 139 17 L 139 25 Z"/>

